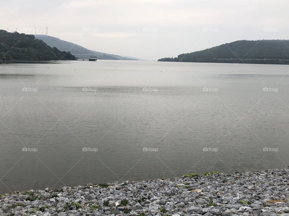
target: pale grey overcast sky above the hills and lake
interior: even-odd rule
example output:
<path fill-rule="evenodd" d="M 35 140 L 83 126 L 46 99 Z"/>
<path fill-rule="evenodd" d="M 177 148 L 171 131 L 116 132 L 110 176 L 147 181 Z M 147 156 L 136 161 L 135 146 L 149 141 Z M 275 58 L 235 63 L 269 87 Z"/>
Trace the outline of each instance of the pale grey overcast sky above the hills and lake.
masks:
<path fill-rule="evenodd" d="M 0 28 L 157 60 L 237 40 L 289 39 L 289 1 L 0 0 Z M 34 33 L 33 33 L 34 34 Z"/>

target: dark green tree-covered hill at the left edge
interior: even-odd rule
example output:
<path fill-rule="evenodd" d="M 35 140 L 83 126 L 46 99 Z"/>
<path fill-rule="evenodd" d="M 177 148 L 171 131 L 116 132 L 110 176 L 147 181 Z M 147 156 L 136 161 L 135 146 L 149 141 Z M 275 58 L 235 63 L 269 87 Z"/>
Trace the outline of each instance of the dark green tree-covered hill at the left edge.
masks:
<path fill-rule="evenodd" d="M 0 62 L 4 57 L 8 61 L 75 60 L 70 52 L 52 48 L 34 35 L 0 30 Z"/>

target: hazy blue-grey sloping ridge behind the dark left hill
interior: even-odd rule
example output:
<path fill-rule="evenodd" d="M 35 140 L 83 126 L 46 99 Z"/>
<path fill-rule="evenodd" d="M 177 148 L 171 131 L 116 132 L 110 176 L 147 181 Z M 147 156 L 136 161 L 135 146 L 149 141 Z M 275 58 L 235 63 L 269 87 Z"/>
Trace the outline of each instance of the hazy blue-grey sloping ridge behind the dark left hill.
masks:
<path fill-rule="evenodd" d="M 98 59 L 111 59 L 111 60 L 138 60 L 137 58 L 127 58 L 121 55 L 108 54 L 104 52 L 97 52 L 90 49 L 86 49 L 83 46 L 73 44 L 68 41 L 63 41 L 59 38 L 46 35 L 36 35 L 36 38 L 42 40 L 44 43 L 52 47 L 57 47 L 61 51 L 69 51 L 72 55 L 75 55 L 80 59 L 87 59 L 90 56 L 97 55 Z"/>

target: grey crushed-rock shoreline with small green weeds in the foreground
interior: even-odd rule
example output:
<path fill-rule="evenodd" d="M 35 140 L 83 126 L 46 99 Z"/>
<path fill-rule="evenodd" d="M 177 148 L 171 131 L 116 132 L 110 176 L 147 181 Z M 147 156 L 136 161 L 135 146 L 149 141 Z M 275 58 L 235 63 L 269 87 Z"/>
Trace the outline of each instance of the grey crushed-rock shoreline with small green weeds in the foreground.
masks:
<path fill-rule="evenodd" d="M 289 169 L 191 173 L 0 195 L 0 215 L 289 215 Z"/>

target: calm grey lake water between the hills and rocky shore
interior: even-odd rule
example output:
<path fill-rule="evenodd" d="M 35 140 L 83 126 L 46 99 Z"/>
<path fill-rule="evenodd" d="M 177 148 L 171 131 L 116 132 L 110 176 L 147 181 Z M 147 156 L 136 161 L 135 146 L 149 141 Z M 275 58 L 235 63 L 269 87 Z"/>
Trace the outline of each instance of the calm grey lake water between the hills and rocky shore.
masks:
<path fill-rule="evenodd" d="M 0 64 L 0 193 L 287 167 L 288 83 L 288 65 Z"/>

